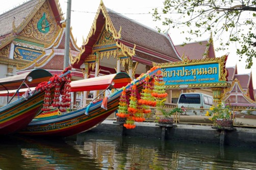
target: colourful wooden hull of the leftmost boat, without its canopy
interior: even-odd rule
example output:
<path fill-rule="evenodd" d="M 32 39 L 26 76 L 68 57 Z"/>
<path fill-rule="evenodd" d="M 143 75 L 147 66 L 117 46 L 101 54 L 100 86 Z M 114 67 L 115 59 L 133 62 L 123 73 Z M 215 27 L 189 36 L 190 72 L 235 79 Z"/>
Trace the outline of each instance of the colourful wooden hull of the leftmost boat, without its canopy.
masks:
<path fill-rule="evenodd" d="M 0 108 L 0 134 L 10 134 L 25 128 L 41 112 L 44 92 L 36 92 Z"/>

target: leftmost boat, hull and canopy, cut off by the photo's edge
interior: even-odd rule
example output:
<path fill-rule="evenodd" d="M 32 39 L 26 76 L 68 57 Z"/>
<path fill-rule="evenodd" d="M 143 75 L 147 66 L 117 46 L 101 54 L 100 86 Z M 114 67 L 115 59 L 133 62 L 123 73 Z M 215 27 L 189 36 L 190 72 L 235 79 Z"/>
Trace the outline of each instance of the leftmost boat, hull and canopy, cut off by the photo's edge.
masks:
<path fill-rule="evenodd" d="M 31 122 L 42 107 L 44 92 L 32 93 L 30 88 L 37 86 L 42 81 L 48 81 L 50 77 L 52 74 L 38 69 L 0 79 L 0 96 L 7 96 L 7 105 L 0 108 L 0 134 L 13 133 Z M 28 88 L 24 90 L 22 87 Z M 22 93 L 27 94 L 27 96 L 19 96 Z M 9 96 L 12 96 L 11 100 L 14 99 L 14 96 L 19 98 L 11 103 Z"/>

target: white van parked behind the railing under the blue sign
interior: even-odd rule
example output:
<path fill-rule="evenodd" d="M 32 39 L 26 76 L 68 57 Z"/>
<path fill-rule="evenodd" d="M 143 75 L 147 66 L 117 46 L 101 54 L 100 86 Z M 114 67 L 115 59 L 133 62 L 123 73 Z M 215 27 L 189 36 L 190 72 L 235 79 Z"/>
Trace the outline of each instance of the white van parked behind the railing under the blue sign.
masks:
<path fill-rule="evenodd" d="M 213 97 L 203 93 L 182 93 L 178 97 L 177 107 L 186 108 L 186 114 L 199 115 L 213 106 Z M 206 109 L 206 110 L 200 110 Z"/>

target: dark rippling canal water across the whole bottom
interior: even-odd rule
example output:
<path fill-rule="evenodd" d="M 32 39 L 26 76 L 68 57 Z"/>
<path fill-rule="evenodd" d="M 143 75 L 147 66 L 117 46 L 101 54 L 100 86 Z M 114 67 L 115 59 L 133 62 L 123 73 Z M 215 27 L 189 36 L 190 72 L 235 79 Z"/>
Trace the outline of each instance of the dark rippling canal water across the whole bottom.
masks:
<path fill-rule="evenodd" d="M 86 132 L 64 140 L 6 136 L 0 169 L 256 169 L 256 150 Z"/>

